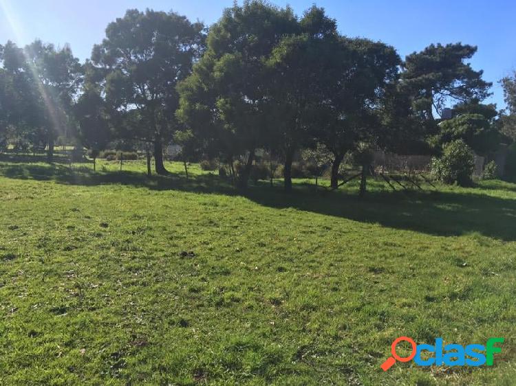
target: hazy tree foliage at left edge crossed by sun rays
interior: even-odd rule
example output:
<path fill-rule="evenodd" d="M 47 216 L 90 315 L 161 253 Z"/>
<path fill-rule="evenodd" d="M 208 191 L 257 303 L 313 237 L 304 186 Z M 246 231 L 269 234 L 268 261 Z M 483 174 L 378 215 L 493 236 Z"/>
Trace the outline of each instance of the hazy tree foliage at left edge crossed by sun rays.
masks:
<path fill-rule="evenodd" d="M 51 159 L 58 135 L 69 137 L 71 106 L 81 82 L 81 66 L 71 49 L 34 41 L 19 48 L 8 41 L 0 61 L 0 137 L 48 147 Z"/>

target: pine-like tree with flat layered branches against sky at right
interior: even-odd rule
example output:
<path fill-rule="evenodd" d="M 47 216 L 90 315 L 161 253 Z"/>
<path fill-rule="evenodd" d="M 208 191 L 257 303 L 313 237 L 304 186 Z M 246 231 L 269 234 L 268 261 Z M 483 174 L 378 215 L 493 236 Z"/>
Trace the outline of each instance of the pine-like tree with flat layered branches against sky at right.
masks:
<path fill-rule="evenodd" d="M 464 60 L 471 58 L 477 47 L 462 43 L 429 45 L 422 52 L 405 58 L 402 74 L 407 91 L 414 96 L 414 106 L 434 125 L 433 111 L 438 114 L 449 101 L 484 100 L 490 82 L 482 80 L 483 71 L 475 71 Z"/>

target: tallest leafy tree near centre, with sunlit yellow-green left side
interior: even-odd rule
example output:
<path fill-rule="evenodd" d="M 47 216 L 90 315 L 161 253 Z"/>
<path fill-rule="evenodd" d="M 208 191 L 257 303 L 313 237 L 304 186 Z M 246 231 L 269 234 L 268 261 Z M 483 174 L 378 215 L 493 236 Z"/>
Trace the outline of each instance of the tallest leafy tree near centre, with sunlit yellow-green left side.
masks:
<path fill-rule="evenodd" d="M 230 163 L 244 157 L 246 188 L 255 150 L 264 144 L 268 118 L 266 60 L 281 38 L 297 31 L 290 8 L 246 1 L 224 11 L 210 29 L 206 53 L 180 86 L 178 117 L 195 135 L 217 144 Z"/>

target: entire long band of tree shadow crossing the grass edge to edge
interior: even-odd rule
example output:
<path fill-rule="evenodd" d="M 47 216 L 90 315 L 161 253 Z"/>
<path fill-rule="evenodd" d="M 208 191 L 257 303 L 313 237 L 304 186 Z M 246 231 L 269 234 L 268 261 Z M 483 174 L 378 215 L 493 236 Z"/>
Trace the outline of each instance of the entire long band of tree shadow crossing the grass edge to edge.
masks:
<path fill-rule="evenodd" d="M 150 190 L 237 195 L 229 183 L 212 174 L 190 179 L 170 174 L 147 177 L 142 172 L 93 172 L 88 168 L 70 170 L 67 166 L 27 163 L 0 163 L 0 174 L 11 179 L 56 181 L 66 185 L 131 185 Z M 488 188 L 482 186 L 482 188 Z M 495 185 L 491 186 L 495 188 Z M 515 241 L 516 201 L 472 192 L 418 191 L 410 194 L 374 190 L 365 199 L 344 192 L 314 194 L 313 187 L 296 185 L 293 194 L 266 183 L 251 186 L 246 198 L 266 207 L 303 210 L 378 223 L 394 229 L 418 231 L 436 236 L 460 236 L 478 233 L 491 238 Z"/>

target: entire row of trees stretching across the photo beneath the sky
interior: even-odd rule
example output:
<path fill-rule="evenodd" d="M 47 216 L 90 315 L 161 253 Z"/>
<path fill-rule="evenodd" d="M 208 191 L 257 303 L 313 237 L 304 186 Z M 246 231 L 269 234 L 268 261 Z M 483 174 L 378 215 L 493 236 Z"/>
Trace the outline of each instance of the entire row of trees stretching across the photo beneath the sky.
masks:
<path fill-rule="evenodd" d="M 245 189 L 257 151 L 281 160 L 286 190 L 303 152 L 329 165 L 332 188 L 347 155 L 372 150 L 440 155 L 462 140 L 479 155 L 516 137 L 515 77 L 507 111 L 482 104 L 491 83 L 467 60 L 477 47 L 429 45 L 402 60 L 396 49 L 338 32 L 316 5 L 245 1 L 211 27 L 174 12 L 128 10 L 109 23 L 85 63 L 69 47 L 0 46 L 0 147 L 21 152 L 77 143 L 95 159 L 138 148 L 165 174 L 164 146 L 182 158 L 220 159 Z M 441 120 L 447 106 L 455 116 Z M 239 168 L 235 168 L 238 161 Z M 319 165 L 319 166 L 317 166 Z"/>

